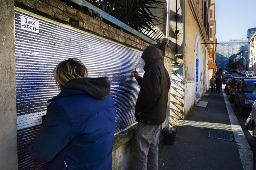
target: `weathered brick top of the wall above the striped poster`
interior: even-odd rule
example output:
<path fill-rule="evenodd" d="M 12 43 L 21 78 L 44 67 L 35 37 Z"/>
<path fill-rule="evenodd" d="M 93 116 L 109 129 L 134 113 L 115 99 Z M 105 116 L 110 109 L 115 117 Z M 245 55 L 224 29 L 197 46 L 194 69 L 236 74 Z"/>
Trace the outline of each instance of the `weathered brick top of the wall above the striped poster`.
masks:
<path fill-rule="evenodd" d="M 33 13 L 71 25 L 86 32 L 96 34 L 144 50 L 150 44 L 140 38 L 124 33 L 101 20 L 101 16 L 88 8 L 75 9 L 58 0 L 14 0 L 15 6 Z"/>

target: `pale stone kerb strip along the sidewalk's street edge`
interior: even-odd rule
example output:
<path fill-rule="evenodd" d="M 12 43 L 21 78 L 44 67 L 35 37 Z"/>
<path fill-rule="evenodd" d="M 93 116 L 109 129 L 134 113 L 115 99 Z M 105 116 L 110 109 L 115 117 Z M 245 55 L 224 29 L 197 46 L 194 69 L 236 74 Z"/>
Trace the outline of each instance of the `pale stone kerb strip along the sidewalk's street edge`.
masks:
<path fill-rule="evenodd" d="M 244 170 L 252 170 L 252 163 L 253 163 L 253 153 L 252 150 L 245 138 L 244 132 L 236 118 L 236 115 L 232 109 L 232 106 L 230 105 L 228 101 L 228 97 L 225 94 L 224 90 L 222 89 L 222 94 L 224 96 L 224 100 L 226 103 L 227 111 L 229 120 L 231 123 L 231 127 L 235 136 L 236 143 L 238 145 L 238 151 L 240 154 L 241 162 L 243 165 Z"/>

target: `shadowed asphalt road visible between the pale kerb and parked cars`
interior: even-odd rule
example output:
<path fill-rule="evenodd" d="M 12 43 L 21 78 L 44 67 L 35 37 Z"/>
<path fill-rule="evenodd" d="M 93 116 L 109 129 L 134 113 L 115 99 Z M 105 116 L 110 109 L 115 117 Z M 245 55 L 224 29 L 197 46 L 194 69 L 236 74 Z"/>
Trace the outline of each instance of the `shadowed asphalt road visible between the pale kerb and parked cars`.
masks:
<path fill-rule="evenodd" d="M 240 74 L 238 74 L 238 73 L 236 73 L 236 72 L 232 72 L 232 76 L 233 77 L 244 77 L 244 76 L 242 76 L 242 75 L 240 75 Z M 225 87 L 225 86 L 224 86 Z M 229 99 L 229 95 L 227 94 L 227 96 L 228 96 L 228 99 Z M 239 115 L 238 115 L 238 108 L 235 108 L 234 107 L 234 102 L 231 102 L 230 100 L 229 100 L 229 102 L 230 102 L 230 104 L 231 104 L 231 106 L 232 106 L 232 108 L 233 108 L 233 110 L 234 110 L 234 112 L 235 112 L 235 114 L 236 114 L 236 117 L 237 117 L 237 119 L 238 119 L 238 122 L 240 123 L 240 126 L 241 126 L 241 128 L 243 129 L 243 132 L 244 132 L 244 134 L 245 134 L 245 137 L 246 137 L 246 139 L 247 139 L 247 141 L 248 141 L 248 143 L 249 143 L 249 145 L 250 145 L 250 147 L 251 147 L 251 149 L 253 148 L 253 141 L 252 141 L 252 131 L 251 130 L 247 130 L 246 128 L 245 128 L 245 122 L 246 122 L 246 119 L 247 118 L 243 118 L 243 117 L 240 117 Z"/>

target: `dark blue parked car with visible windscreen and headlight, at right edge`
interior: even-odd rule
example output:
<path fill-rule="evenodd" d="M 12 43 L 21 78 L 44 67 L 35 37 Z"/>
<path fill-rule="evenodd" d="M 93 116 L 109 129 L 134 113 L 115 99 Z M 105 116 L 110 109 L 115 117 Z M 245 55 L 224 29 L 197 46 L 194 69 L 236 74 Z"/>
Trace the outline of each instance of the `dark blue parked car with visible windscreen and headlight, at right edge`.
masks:
<path fill-rule="evenodd" d="M 244 79 L 235 93 L 235 107 L 241 117 L 249 116 L 256 99 L 256 79 Z"/>

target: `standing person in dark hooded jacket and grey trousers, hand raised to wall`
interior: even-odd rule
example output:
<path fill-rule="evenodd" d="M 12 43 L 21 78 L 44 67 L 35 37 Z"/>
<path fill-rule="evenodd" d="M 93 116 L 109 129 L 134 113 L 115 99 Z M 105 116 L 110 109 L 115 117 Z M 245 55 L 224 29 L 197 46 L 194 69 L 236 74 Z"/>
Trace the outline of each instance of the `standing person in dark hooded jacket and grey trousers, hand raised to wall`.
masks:
<path fill-rule="evenodd" d="M 158 169 L 160 125 L 166 118 L 170 77 L 156 47 L 148 46 L 142 53 L 145 61 L 143 77 L 132 71 L 140 88 L 135 105 L 138 122 L 133 139 L 132 169 Z"/>

